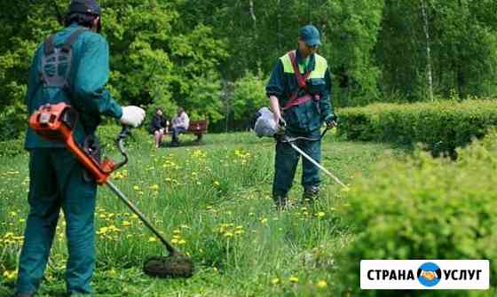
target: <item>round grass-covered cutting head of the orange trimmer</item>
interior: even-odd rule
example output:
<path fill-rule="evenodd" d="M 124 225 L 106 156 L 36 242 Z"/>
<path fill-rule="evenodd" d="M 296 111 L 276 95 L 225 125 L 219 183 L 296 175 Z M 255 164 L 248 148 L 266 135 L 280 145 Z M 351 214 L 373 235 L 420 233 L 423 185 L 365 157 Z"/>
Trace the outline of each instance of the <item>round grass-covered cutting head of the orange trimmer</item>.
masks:
<path fill-rule="evenodd" d="M 193 276 L 193 262 L 184 254 L 152 256 L 143 265 L 143 271 L 152 277 L 188 278 Z"/>

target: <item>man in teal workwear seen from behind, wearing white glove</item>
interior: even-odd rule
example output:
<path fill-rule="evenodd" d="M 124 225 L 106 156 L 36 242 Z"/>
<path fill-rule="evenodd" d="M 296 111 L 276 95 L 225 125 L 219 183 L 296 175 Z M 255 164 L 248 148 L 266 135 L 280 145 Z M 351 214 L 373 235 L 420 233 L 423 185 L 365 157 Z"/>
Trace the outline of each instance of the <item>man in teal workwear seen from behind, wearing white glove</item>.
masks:
<path fill-rule="evenodd" d="M 108 44 L 100 29 L 100 7 L 94 0 L 73 0 L 66 27 L 36 50 L 29 71 L 28 113 L 40 106 L 65 102 L 74 106 L 79 121 L 75 140 L 83 145 L 94 135 L 100 116 L 138 127 L 145 111 L 122 107 L 105 85 L 109 77 Z M 62 143 L 38 137 L 28 129 L 29 215 L 20 253 L 15 295 L 36 293 L 48 261 L 60 209 L 67 223 L 67 293 L 90 294 L 95 267 L 94 213 L 97 184 Z"/>

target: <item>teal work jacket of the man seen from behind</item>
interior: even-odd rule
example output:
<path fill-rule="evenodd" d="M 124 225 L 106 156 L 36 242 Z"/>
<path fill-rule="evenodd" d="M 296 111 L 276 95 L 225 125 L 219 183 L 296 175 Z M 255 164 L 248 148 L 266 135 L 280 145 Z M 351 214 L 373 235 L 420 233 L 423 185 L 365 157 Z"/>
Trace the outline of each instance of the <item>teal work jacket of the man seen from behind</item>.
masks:
<path fill-rule="evenodd" d="M 61 46 L 78 28 L 82 27 L 73 24 L 57 33 L 53 39 L 55 46 Z M 67 79 L 69 91 L 65 91 L 43 86 L 41 78 L 43 43 L 38 47 L 29 70 L 26 105 L 29 114 L 45 104 L 66 102 L 74 106 L 79 113 L 74 136 L 76 142 L 82 144 L 84 137 L 93 134 L 99 126 L 101 115 L 120 119 L 122 107 L 115 102 L 105 88 L 109 77 L 109 49 L 106 39 L 102 35 L 87 30 L 77 37 L 71 46 L 71 52 L 72 63 Z M 32 129 L 28 128 L 26 149 L 63 146 L 64 144 L 38 137 Z"/>

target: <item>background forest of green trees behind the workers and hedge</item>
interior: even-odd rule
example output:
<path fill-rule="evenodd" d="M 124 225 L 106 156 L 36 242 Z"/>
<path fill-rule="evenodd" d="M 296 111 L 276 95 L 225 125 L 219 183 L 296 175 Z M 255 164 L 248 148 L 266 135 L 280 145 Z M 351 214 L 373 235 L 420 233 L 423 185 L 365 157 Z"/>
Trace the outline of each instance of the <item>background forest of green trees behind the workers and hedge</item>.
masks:
<path fill-rule="evenodd" d="M 267 106 L 276 59 L 298 28 L 319 28 L 336 107 L 490 98 L 497 93 L 492 0 L 100 0 L 108 87 L 123 105 L 184 106 L 211 131 L 247 129 Z M 0 2 L 0 140 L 26 128 L 36 46 L 60 28 L 67 0 Z"/>

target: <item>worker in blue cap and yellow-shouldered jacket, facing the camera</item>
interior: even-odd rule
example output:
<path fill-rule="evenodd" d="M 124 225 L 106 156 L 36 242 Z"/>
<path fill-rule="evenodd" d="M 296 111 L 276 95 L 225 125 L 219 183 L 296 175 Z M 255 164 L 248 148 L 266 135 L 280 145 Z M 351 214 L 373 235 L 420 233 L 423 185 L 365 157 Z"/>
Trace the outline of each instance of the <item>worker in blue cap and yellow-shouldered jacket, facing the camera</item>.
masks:
<path fill-rule="evenodd" d="M 302 27 L 297 50 L 278 59 L 266 86 L 274 121 L 280 124 L 280 131 L 284 131 L 286 139 L 297 137 L 299 140 L 295 144 L 318 162 L 321 159 L 320 128 L 323 122 L 328 127 L 334 127 L 336 123 L 329 99 L 331 75 L 327 60 L 316 53 L 320 44 L 316 27 Z M 272 184 L 272 198 L 277 207 L 287 206 L 299 157 L 288 142 L 277 142 Z M 318 197 L 319 168 L 306 159 L 303 159 L 301 183 L 304 200 Z"/>

